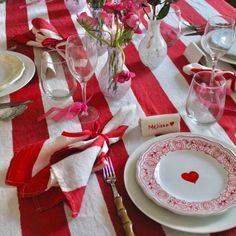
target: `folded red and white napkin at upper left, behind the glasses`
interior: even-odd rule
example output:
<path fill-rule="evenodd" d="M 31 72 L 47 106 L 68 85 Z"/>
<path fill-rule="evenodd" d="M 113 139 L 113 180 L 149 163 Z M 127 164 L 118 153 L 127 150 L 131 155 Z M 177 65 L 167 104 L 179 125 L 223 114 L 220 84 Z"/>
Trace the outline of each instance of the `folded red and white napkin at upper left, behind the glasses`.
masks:
<path fill-rule="evenodd" d="M 33 28 L 25 34 L 16 35 L 14 40 L 33 47 L 56 48 L 64 56 L 66 39 L 59 34 L 56 28 L 42 18 L 32 20 Z"/>

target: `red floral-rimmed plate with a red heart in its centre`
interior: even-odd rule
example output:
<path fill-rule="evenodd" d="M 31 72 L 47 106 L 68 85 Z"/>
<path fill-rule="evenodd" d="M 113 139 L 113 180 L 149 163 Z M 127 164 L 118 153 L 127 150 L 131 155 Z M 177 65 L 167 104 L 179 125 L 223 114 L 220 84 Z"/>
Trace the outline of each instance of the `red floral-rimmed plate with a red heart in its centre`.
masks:
<path fill-rule="evenodd" d="M 181 215 L 213 215 L 236 205 L 236 156 L 220 143 L 177 135 L 152 144 L 136 178 L 158 205 Z"/>

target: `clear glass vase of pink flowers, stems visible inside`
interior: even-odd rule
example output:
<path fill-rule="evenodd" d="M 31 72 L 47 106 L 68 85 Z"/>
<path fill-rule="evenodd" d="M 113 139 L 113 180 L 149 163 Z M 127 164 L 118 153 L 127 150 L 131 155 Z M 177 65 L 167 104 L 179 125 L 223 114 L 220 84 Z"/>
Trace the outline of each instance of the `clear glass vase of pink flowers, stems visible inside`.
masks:
<path fill-rule="evenodd" d="M 124 52 L 122 48 L 109 47 L 106 64 L 98 76 L 100 89 L 105 97 L 111 100 L 121 99 L 129 90 L 131 79 L 118 82 L 116 75 L 124 68 Z"/>

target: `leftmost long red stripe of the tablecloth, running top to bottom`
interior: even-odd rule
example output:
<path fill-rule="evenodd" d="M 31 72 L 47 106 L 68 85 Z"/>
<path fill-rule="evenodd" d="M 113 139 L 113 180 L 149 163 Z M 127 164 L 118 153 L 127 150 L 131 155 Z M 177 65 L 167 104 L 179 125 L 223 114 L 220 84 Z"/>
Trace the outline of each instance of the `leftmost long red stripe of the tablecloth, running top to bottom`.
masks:
<path fill-rule="evenodd" d="M 25 4 L 25 1 L 6 1 L 6 34 L 8 45 L 11 45 L 10 40 L 14 36 L 12 35 L 13 29 L 15 29 L 16 33 L 21 33 L 19 30 L 22 29 L 28 30 L 27 11 L 26 8 L 19 11 L 19 5 L 21 4 Z M 13 14 L 16 12 L 18 14 Z M 22 27 L 22 24 L 24 24 L 24 27 Z M 8 29 L 11 29 L 10 32 Z M 32 48 L 19 45 L 17 49 L 18 52 L 22 52 L 31 59 L 34 59 Z M 11 95 L 11 100 L 21 99 L 32 99 L 34 102 L 24 114 L 12 122 L 14 152 L 26 144 L 48 138 L 46 122 L 37 122 L 37 117 L 44 112 L 37 73 L 26 87 Z M 57 235 L 69 235 L 63 204 L 47 212 L 39 213 L 35 211 L 34 203 L 31 199 L 18 199 L 22 235 L 53 235 L 58 229 L 60 229 L 60 233 Z"/>

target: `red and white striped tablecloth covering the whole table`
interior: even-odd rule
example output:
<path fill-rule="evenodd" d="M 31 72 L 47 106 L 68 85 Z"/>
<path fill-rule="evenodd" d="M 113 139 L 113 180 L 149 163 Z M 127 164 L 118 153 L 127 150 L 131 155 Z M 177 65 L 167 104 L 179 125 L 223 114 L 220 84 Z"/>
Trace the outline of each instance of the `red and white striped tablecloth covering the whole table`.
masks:
<path fill-rule="evenodd" d="M 29 1 L 6 0 L 0 4 L 1 49 L 12 47 L 14 45 L 12 37 L 28 31 L 31 28 L 31 20 L 36 17 L 50 21 L 65 37 L 76 33 L 79 27 L 76 16 L 70 14 L 64 0 L 40 1 L 21 7 L 26 2 Z M 180 0 L 177 4 L 181 8 L 182 17 L 197 24 L 206 23 L 207 18 L 215 14 L 236 17 L 236 10 L 223 0 Z M 142 28 L 145 30 L 147 23 L 145 21 L 142 23 Z M 190 234 L 169 229 L 149 219 L 132 203 L 125 190 L 123 179 L 125 163 L 129 155 L 148 139 L 140 134 L 138 118 L 144 115 L 179 113 L 182 118 L 181 131 L 208 135 L 235 145 L 236 116 L 233 112 L 225 111 L 219 123 L 204 129 L 192 124 L 186 117 L 185 100 L 191 78 L 182 70 L 183 66 L 189 63 L 183 53 L 187 45 L 191 41 L 199 41 L 200 36 L 181 36 L 174 46 L 168 48 L 168 57 L 162 65 L 153 71 L 139 60 L 137 47 L 142 37 L 143 35 L 136 36 L 125 48 L 126 66 L 136 74 L 126 96 L 120 101 L 111 102 L 100 92 L 96 76 L 104 63 L 101 58 L 95 75 L 88 83 L 88 97 L 93 95 L 90 103 L 99 109 L 101 124 L 105 124 L 120 106 L 132 103 L 137 107 L 137 120 L 134 121 L 136 128 L 110 150 L 117 172 L 117 187 L 133 222 L 136 235 L 187 236 Z M 42 49 L 17 45 L 16 51 L 30 57 L 39 68 Z M 221 66 L 225 66 L 224 63 L 221 63 Z M 235 70 L 235 66 L 227 65 L 227 69 Z M 75 219 L 72 219 L 65 204 L 57 205 L 42 213 L 35 212 L 31 200 L 18 198 L 17 190 L 4 184 L 13 153 L 24 145 L 59 135 L 63 130 L 80 131 L 87 128 L 85 125 L 80 125 L 76 118 L 58 123 L 49 119 L 37 122 L 42 113 L 52 106 L 60 105 L 60 102 L 49 101 L 42 94 L 39 74 L 36 72 L 27 86 L 0 98 L 0 102 L 33 100 L 28 110 L 21 116 L 8 122 L 0 121 L 0 235 L 124 235 L 110 186 L 104 183 L 99 173 L 91 176 L 82 209 Z M 73 99 L 80 100 L 80 92 L 75 93 Z M 227 97 L 226 105 L 236 107 L 231 97 Z M 212 235 L 236 235 L 236 228 Z"/>

